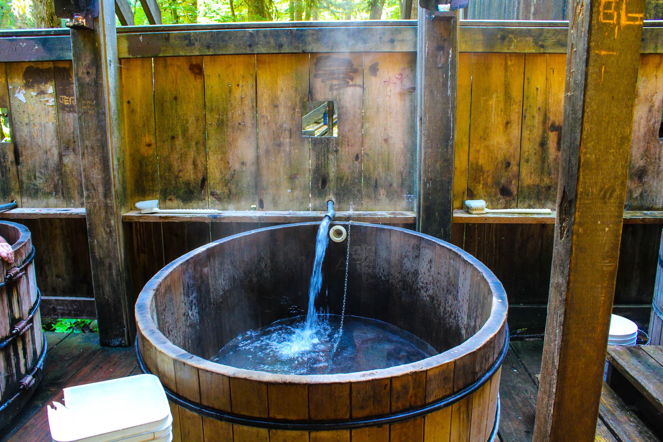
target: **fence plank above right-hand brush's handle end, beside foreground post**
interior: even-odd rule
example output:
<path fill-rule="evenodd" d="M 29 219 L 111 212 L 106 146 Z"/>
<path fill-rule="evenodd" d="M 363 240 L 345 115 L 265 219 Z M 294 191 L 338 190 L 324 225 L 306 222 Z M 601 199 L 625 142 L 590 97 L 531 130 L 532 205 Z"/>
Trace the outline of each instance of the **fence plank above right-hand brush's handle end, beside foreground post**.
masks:
<path fill-rule="evenodd" d="M 555 208 L 565 74 L 565 54 L 525 56 L 518 207 Z"/>

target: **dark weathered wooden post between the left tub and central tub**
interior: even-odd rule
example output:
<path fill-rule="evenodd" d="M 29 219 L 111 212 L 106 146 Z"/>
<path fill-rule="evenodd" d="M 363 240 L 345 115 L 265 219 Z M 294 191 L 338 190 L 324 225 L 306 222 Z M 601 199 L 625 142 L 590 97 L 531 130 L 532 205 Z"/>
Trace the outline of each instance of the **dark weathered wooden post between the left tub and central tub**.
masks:
<path fill-rule="evenodd" d="M 135 325 L 121 229 L 123 119 L 113 0 L 99 0 L 93 23 L 94 30 L 71 31 L 92 283 L 101 345 L 127 347 Z"/>

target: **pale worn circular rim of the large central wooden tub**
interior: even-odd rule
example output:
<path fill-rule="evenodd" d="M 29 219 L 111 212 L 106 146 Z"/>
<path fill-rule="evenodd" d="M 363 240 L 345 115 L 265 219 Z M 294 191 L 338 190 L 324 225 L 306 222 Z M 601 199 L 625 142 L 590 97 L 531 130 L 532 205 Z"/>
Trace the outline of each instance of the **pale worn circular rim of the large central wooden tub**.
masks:
<path fill-rule="evenodd" d="M 347 225 L 348 222 L 332 222 L 332 224 Z M 152 276 L 152 278 L 147 282 L 147 284 L 145 284 L 143 290 L 141 290 L 141 293 L 138 296 L 135 305 L 137 332 L 143 336 L 143 339 L 149 340 L 154 348 L 160 351 L 160 353 L 163 353 L 166 357 L 178 362 L 182 362 L 183 364 L 187 364 L 194 368 L 198 368 L 198 370 L 204 370 L 214 374 L 221 374 L 229 378 L 243 378 L 272 384 L 343 384 L 347 382 L 365 382 L 370 380 L 388 379 L 405 374 L 412 374 L 414 372 L 425 371 L 436 366 L 444 365 L 448 362 L 451 362 L 452 360 L 460 359 L 469 353 L 479 351 L 481 347 L 489 343 L 491 339 L 495 339 L 495 337 L 505 329 L 508 311 L 507 293 L 505 292 L 504 287 L 502 286 L 501 282 L 499 282 L 495 274 L 493 274 L 493 272 L 491 272 L 491 270 L 489 270 L 489 268 L 487 268 L 485 264 L 483 264 L 477 258 L 451 243 L 432 237 L 430 235 L 426 235 L 424 233 L 389 225 L 354 222 L 353 224 L 379 227 L 382 229 L 392 229 L 396 231 L 402 231 L 410 235 L 418 235 L 420 237 L 434 241 L 442 247 L 446 247 L 447 249 L 456 252 L 460 258 L 463 258 L 466 262 L 469 262 L 469 264 L 475 266 L 475 268 L 479 270 L 481 276 L 485 278 L 489 284 L 489 287 L 491 288 L 491 292 L 493 293 L 493 305 L 491 306 L 491 314 L 481 329 L 463 341 L 463 343 L 460 343 L 459 345 L 452 347 L 447 351 L 438 353 L 438 355 L 434 355 L 426 359 L 418 360 L 416 362 L 410 362 L 409 364 L 402 364 L 388 368 L 379 368 L 377 370 L 338 374 L 276 374 L 218 364 L 217 362 L 211 362 L 211 360 L 207 360 L 194 355 L 193 353 L 189 353 L 181 347 L 174 345 L 169 339 L 167 339 L 166 336 L 158 329 L 154 321 L 152 321 L 150 314 L 150 304 L 154 298 L 154 291 L 158 287 L 158 284 L 160 284 L 160 282 L 162 282 L 162 280 L 164 280 L 164 278 L 166 278 L 170 272 L 174 270 L 174 268 L 180 266 L 180 264 L 186 262 L 188 259 L 202 252 L 203 250 L 215 247 L 215 245 L 219 243 L 223 243 L 224 241 L 233 241 L 245 235 L 251 235 L 257 231 L 285 229 L 288 227 L 300 227 L 304 225 L 320 225 L 319 221 L 312 221 L 308 223 L 291 223 L 262 227 L 260 229 L 253 229 L 251 231 L 237 233 L 236 235 L 218 239 L 217 241 L 213 241 L 198 247 L 197 249 L 191 250 L 190 252 L 172 260 L 172 262 L 166 264 L 164 268 Z M 497 341 L 495 344 L 497 345 Z M 495 351 L 494 353 L 495 357 L 493 359 L 497 359 L 497 353 L 499 353 L 499 351 Z"/>

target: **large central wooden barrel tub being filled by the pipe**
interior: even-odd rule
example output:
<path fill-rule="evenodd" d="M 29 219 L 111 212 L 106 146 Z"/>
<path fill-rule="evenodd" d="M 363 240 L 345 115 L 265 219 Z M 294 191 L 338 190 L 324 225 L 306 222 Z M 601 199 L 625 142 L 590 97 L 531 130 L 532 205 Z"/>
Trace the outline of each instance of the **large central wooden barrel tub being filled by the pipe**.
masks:
<path fill-rule="evenodd" d="M 509 339 L 505 291 L 473 256 L 406 229 L 351 225 L 346 314 L 401 327 L 440 354 L 309 376 L 208 360 L 244 331 L 306 314 L 318 225 L 215 241 L 174 260 L 143 288 L 137 355 L 166 388 L 176 440 L 495 440 Z M 347 240 L 330 241 L 324 261 L 318 304 L 331 313 L 342 308 L 346 248 Z"/>

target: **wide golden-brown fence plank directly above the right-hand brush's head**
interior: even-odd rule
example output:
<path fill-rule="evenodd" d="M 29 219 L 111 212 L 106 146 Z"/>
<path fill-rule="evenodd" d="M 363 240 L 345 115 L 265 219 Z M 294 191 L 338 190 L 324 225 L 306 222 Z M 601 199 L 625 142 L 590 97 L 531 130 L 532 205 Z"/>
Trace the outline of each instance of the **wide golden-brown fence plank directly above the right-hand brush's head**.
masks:
<path fill-rule="evenodd" d="M 474 54 L 467 198 L 516 207 L 523 54 Z"/>

